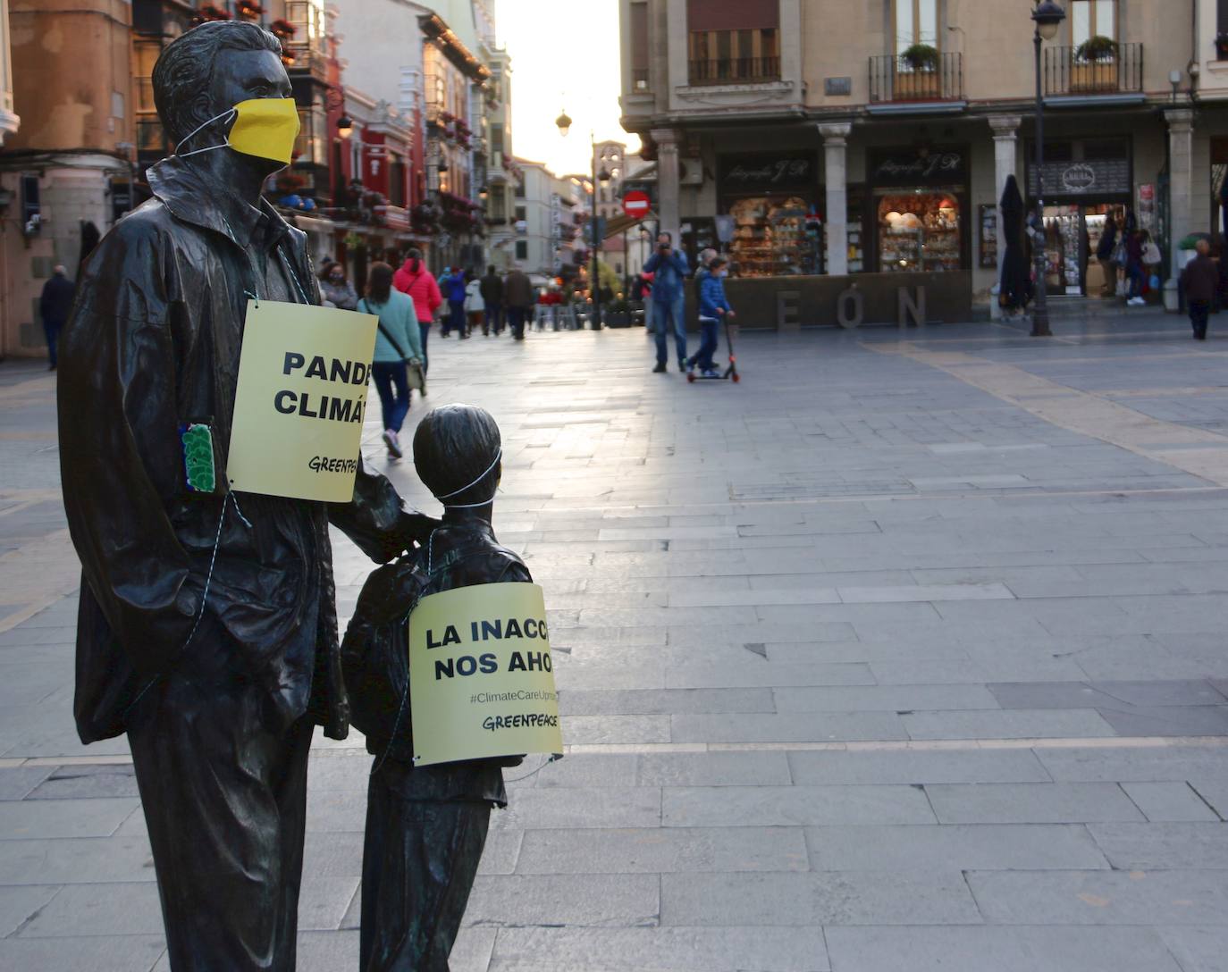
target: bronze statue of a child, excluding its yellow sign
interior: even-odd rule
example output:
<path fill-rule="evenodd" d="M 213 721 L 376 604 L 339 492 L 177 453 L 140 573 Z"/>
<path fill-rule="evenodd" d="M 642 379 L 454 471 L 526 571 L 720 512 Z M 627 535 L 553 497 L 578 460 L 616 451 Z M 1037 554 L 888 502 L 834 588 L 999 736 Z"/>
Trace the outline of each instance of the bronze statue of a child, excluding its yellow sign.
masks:
<path fill-rule="evenodd" d="M 499 426 L 484 409 L 446 405 L 414 434 L 414 466 L 443 503 L 426 544 L 376 569 L 341 647 L 354 725 L 375 756 L 362 852 L 362 972 L 447 972 L 486 842 L 507 805 L 502 768 L 518 757 L 414 767 L 405 621 L 453 588 L 530 583 L 490 525 L 501 475 Z"/>

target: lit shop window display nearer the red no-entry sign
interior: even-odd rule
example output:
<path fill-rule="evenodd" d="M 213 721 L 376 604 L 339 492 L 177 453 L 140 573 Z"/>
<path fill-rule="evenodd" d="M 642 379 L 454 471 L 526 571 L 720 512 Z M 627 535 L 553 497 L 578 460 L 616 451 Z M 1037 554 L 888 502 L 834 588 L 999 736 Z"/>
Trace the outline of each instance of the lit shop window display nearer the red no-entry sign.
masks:
<path fill-rule="evenodd" d="M 729 206 L 729 255 L 738 276 L 820 272 L 819 238 L 807 230 L 809 205 L 801 196 L 739 199 Z"/>

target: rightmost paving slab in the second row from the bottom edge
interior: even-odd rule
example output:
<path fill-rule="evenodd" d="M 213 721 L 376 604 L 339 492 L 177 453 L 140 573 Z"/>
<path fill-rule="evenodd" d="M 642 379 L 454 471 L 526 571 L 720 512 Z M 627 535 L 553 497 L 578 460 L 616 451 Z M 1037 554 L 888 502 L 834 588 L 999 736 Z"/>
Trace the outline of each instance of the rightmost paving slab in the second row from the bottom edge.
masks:
<path fill-rule="evenodd" d="M 1228 913 L 1223 874 L 975 871 L 968 886 L 990 924 L 1214 924 Z"/>

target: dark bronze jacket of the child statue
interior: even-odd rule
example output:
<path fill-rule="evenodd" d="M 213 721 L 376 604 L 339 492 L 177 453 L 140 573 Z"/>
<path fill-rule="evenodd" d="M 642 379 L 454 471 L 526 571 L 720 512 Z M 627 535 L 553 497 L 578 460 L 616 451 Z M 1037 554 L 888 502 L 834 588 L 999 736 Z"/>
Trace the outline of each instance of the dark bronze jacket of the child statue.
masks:
<path fill-rule="evenodd" d="M 518 758 L 413 766 L 413 716 L 405 707 L 405 622 L 418 601 L 430 594 L 532 580 L 524 562 L 495 540 L 489 523 L 453 512 L 426 549 L 378 568 L 362 585 L 341 649 L 345 679 L 354 693 L 354 725 L 366 735 L 367 751 L 379 763 L 399 763 L 408 774 L 399 787 L 406 798 L 507 804 L 502 766 L 516 765 Z"/>

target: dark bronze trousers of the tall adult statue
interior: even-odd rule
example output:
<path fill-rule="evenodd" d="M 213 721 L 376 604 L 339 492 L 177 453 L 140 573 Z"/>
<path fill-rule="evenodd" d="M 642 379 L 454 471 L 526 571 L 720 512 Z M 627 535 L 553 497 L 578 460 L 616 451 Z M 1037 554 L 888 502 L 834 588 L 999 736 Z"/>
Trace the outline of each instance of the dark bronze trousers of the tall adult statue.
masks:
<path fill-rule="evenodd" d="M 292 972 L 312 727 L 260 720 L 265 691 L 177 675 L 128 736 L 174 972 Z"/>

